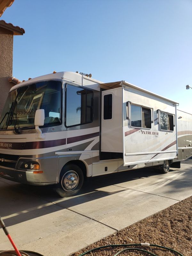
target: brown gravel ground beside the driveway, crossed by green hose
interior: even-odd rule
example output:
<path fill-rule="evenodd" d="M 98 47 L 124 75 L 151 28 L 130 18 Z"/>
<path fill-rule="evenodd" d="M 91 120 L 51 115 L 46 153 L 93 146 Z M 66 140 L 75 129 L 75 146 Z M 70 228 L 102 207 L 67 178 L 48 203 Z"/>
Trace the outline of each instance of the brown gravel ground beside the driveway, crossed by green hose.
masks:
<path fill-rule="evenodd" d="M 138 209 L 139 211 L 139 209 Z M 124 228 L 112 236 L 108 236 L 97 243 L 91 244 L 80 252 L 72 254 L 77 256 L 92 248 L 107 244 L 139 244 L 150 243 L 172 248 L 184 256 L 192 256 L 192 196 L 174 204 L 167 209 L 156 213 L 152 217 L 141 220 Z M 125 247 L 124 247 L 125 248 Z M 124 249 L 108 248 L 91 252 L 89 256 L 112 256 Z M 178 255 L 154 247 L 138 247 L 155 253 L 158 256 Z M 124 252 L 127 256 L 149 255 L 144 252 Z"/>

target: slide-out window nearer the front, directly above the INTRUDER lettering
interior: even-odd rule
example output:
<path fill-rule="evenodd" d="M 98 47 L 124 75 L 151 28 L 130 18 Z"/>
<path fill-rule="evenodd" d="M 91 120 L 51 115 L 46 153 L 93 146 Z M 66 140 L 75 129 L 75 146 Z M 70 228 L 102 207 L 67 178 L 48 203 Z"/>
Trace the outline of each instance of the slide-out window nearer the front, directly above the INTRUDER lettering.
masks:
<path fill-rule="evenodd" d="M 151 128 L 151 109 L 131 105 L 131 126 Z"/>

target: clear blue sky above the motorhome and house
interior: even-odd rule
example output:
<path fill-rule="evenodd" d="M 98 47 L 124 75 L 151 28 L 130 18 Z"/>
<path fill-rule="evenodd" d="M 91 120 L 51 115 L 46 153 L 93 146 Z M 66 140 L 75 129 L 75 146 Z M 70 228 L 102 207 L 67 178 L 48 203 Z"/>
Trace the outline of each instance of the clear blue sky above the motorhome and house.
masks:
<path fill-rule="evenodd" d="M 15 0 L 13 76 L 56 71 L 125 80 L 192 113 L 192 0 Z"/>

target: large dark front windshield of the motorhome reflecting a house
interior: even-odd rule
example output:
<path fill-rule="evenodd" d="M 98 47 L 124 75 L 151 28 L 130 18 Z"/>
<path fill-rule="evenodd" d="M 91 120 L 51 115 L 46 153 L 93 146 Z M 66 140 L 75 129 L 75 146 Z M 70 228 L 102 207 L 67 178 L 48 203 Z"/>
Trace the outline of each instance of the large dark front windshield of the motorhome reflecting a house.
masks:
<path fill-rule="evenodd" d="M 35 112 L 44 109 L 44 126 L 61 123 L 60 81 L 43 81 L 19 87 L 9 93 L 0 117 L 0 130 L 33 128 Z"/>

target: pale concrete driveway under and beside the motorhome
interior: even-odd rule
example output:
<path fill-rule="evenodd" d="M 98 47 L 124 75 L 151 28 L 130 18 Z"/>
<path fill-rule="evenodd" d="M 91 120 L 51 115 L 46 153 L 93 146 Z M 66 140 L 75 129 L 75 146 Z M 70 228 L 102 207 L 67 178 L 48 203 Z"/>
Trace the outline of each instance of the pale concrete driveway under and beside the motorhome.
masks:
<path fill-rule="evenodd" d="M 167 174 L 144 168 L 95 177 L 70 198 L 0 178 L 0 216 L 20 250 L 63 256 L 189 196 L 191 164 Z M 0 250 L 8 249 L 0 229 Z"/>

